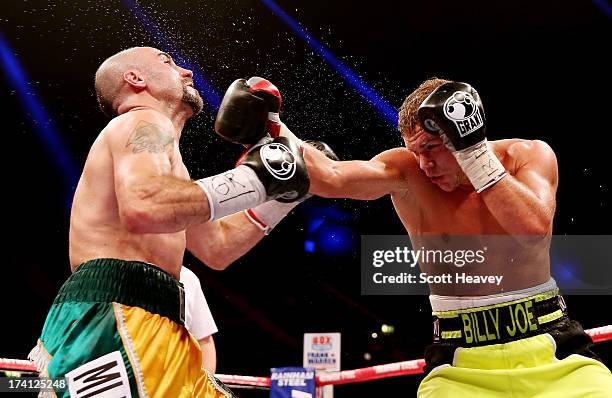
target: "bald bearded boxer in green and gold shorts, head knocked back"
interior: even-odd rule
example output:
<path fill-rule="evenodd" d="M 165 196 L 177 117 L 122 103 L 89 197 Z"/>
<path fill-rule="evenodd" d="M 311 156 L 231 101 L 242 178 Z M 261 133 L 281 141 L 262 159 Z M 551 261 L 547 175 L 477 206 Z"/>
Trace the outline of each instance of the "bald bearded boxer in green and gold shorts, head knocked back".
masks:
<path fill-rule="evenodd" d="M 268 134 L 280 93 L 262 80 L 228 91 L 224 106 L 255 105 L 248 117 L 219 114 L 218 132 L 234 133 L 239 122 L 234 138 L 249 150 L 235 168 L 193 181 L 179 152 L 185 122 L 202 110 L 192 72 L 163 51 L 137 47 L 105 60 L 95 83 L 113 119 L 74 196 L 73 274 L 30 358 L 41 375 L 68 379 L 61 396 L 232 396 L 201 368 L 178 278 L 185 249 L 223 269 L 308 193 L 299 148 Z"/>

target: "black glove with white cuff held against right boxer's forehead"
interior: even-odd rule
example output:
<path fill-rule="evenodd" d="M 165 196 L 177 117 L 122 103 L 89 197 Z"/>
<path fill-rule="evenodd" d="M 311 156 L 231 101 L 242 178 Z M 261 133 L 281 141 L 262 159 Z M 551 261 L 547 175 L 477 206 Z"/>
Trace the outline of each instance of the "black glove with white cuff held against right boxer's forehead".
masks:
<path fill-rule="evenodd" d="M 484 108 L 472 86 L 441 85 L 425 98 L 418 117 L 426 132 L 442 137 L 476 192 L 506 176 L 504 166 L 489 149 Z"/>

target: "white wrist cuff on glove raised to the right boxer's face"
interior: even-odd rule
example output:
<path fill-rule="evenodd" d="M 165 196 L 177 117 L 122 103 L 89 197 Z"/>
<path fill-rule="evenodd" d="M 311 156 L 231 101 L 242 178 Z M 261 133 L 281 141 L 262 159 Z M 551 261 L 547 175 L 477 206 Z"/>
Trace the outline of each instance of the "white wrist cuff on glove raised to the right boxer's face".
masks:
<path fill-rule="evenodd" d="M 453 152 L 453 155 L 478 193 L 495 184 L 507 174 L 497 156 L 489 149 L 487 140 Z"/>

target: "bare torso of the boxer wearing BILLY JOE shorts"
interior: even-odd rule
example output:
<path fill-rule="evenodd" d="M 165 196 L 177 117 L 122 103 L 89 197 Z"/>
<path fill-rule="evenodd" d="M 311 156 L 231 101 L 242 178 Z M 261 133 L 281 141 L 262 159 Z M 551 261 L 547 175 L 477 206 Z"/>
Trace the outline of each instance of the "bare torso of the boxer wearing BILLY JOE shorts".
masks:
<path fill-rule="evenodd" d="M 529 145 L 529 143 L 524 140 L 503 140 L 493 141 L 491 145 L 509 175 L 515 176 L 517 158 L 512 155 L 513 146 Z M 496 294 L 500 293 L 500 290 L 513 291 L 532 287 L 550 278 L 548 255 L 550 236 L 528 245 L 520 242 L 514 244 L 486 206 L 482 196 L 473 188 L 460 186 L 452 192 L 444 192 L 432 184 L 424 173 L 418 172 L 417 160 L 409 150 L 401 150 L 398 156 L 402 156 L 406 169 L 417 169 L 416 173 L 407 174 L 411 176 L 406 181 L 410 186 L 409 190 L 391 194 L 395 210 L 412 237 L 414 246 L 419 247 L 423 244 L 423 239 L 426 239 L 424 235 L 468 235 L 474 237 L 468 239 L 470 243 L 475 243 L 478 236 L 482 236 L 480 247 L 488 248 L 486 261 L 482 265 L 473 263 L 469 267 L 457 268 L 452 265 L 421 263 L 422 271 L 431 275 L 466 272 L 470 275 L 504 276 L 500 285 L 493 283 L 430 285 L 433 294 L 450 296 Z M 460 247 L 462 243 L 455 246 L 450 242 L 448 247 L 468 249 Z"/>

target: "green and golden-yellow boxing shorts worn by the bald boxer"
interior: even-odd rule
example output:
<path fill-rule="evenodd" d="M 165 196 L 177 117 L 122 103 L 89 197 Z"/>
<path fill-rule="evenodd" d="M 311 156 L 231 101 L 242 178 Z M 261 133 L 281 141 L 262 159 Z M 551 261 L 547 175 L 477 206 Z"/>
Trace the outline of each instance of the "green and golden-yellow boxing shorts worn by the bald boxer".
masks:
<path fill-rule="evenodd" d="M 233 397 L 202 369 L 184 327 L 182 284 L 138 261 L 81 264 L 60 289 L 30 353 L 62 397 Z"/>

